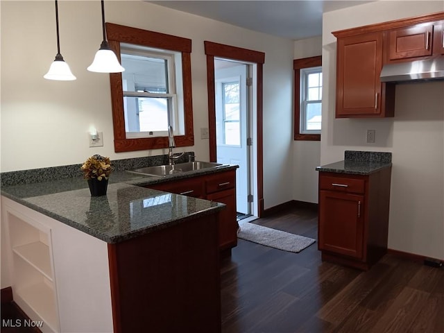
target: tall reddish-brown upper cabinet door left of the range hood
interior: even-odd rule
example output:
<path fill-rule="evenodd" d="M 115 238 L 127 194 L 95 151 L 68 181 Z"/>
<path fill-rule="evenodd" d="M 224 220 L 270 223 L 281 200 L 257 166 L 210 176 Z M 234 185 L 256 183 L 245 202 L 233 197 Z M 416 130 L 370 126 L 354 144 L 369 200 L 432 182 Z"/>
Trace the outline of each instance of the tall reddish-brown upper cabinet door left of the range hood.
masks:
<path fill-rule="evenodd" d="M 382 42 L 380 32 L 338 38 L 336 118 L 393 115 L 384 103 L 386 84 L 379 80 Z"/>

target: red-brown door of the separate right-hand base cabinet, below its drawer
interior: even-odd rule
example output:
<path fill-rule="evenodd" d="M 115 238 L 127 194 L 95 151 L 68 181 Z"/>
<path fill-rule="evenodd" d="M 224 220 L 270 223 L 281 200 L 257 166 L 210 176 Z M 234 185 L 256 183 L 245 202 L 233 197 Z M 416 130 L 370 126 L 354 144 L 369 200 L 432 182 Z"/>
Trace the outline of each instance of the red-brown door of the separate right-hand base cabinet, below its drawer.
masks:
<path fill-rule="evenodd" d="M 362 259 L 364 196 L 320 191 L 319 200 L 319 250 Z"/>

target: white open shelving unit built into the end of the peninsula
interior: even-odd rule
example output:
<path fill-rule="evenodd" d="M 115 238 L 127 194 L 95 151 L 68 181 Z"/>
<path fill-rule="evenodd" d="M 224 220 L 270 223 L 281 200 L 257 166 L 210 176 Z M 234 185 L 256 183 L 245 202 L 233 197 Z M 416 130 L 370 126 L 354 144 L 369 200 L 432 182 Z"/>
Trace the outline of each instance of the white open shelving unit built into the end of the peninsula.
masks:
<path fill-rule="evenodd" d="M 60 332 L 51 229 L 24 214 L 6 211 L 17 305 L 32 321 L 43 321 L 42 332 Z"/>

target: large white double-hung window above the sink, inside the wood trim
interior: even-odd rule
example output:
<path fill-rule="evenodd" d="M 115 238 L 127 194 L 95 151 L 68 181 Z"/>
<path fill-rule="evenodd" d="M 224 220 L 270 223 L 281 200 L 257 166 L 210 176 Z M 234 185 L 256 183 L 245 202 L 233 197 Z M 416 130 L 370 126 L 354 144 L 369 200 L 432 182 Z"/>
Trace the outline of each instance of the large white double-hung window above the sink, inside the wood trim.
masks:
<path fill-rule="evenodd" d="M 121 45 L 123 112 L 127 138 L 183 134 L 180 52 Z"/>

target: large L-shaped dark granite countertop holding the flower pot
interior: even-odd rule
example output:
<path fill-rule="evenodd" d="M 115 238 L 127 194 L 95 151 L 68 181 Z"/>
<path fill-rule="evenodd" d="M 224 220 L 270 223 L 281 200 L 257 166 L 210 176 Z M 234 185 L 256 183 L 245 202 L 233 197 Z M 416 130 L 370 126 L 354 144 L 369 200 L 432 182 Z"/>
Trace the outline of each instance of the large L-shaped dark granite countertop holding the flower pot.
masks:
<path fill-rule="evenodd" d="M 118 243 L 167 228 L 225 205 L 209 200 L 147 189 L 144 185 L 237 169 L 227 165 L 148 177 L 116 171 L 111 174 L 106 196 L 92 197 L 83 177 L 2 186 L 1 195 L 108 243 Z"/>

